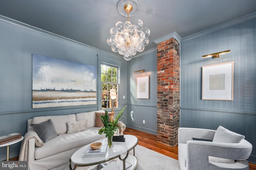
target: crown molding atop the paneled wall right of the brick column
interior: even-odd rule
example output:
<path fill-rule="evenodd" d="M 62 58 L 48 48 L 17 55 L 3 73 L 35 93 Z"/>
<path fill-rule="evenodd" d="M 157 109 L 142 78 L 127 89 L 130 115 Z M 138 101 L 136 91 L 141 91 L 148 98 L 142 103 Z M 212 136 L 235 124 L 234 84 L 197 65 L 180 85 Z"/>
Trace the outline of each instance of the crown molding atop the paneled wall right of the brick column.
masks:
<path fill-rule="evenodd" d="M 193 39 L 193 38 L 201 37 L 203 35 L 206 35 L 206 34 L 209 34 L 209 33 L 215 32 L 215 31 L 219 31 L 221 29 L 224 29 L 224 28 L 227 28 L 227 27 L 230 27 L 230 26 L 233 26 L 233 25 L 237 25 L 239 23 L 243 23 L 245 21 L 252 20 L 252 19 L 255 19 L 255 18 L 256 18 L 256 12 L 253 12 L 253 13 L 248 14 L 246 16 L 237 18 L 237 19 L 232 20 L 232 21 L 228 21 L 226 23 L 217 25 L 217 26 L 212 27 L 210 29 L 206 29 L 204 31 L 194 33 L 192 35 L 188 35 L 187 37 L 183 37 L 181 39 L 181 41 L 188 41 L 188 40 Z"/>

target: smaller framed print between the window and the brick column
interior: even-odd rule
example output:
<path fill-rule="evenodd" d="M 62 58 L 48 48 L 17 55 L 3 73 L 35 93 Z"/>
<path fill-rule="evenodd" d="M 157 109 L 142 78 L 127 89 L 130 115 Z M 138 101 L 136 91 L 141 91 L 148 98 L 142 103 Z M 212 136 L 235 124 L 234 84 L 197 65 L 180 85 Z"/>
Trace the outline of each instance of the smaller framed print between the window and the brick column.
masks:
<path fill-rule="evenodd" d="M 137 77 L 137 99 L 149 99 L 149 76 Z"/>

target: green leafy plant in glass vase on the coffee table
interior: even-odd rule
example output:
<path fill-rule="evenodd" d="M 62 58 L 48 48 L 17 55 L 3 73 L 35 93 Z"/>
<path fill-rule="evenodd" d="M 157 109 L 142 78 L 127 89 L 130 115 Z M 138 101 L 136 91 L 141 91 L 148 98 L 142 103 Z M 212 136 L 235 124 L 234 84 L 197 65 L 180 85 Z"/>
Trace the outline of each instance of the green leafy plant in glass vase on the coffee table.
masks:
<path fill-rule="evenodd" d="M 125 106 L 126 107 L 126 106 Z M 116 119 L 114 119 L 114 113 L 112 112 L 111 117 L 108 116 L 108 111 L 105 110 L 105 115 L 99 115 L 100 116 L 104 127 L 102 127 L 101 129 L 99 129 L 99 134 L 106 134 L 106 137 L 110 138 L 112 136 L 114 136 L 114 133 L 116 131 L 116 129 L 119 129 L 121 127 L 118 127 L 117 123 L 118 121 L 120 121 L 120 118 L 122 117 L 122 115 L 124 114 L 123 111 L 125 109 L 125 107 L 118 113 L 118 115 L 116 116 Z"/>

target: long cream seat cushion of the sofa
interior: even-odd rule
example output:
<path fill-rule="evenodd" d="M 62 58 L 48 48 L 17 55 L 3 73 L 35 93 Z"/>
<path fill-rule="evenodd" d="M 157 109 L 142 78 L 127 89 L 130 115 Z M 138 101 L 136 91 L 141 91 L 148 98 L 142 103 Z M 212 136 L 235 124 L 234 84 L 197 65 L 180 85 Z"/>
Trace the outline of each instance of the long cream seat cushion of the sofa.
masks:
<path fill-rule="evenodd" d="M 35 159 L 45 158 L 106 138 L 105 134 L 98 134 L 99 129 L 98 127 L 92 127 L 86 131 L 58 135 L 45 143 L 44 147 L 35 147 Z"/>

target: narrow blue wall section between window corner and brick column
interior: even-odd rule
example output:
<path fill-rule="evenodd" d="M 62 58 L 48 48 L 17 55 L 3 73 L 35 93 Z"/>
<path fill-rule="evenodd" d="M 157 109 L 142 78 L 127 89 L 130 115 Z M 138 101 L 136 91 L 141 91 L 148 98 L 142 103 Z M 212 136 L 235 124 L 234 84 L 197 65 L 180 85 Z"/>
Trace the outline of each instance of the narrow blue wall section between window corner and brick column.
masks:
<path fill-rule="evenodd" d="M 156 99 L 157 74 L 156 52 L 153 49 L 140 57 L 135 57 L 127 63 L 127 123 L 128 127 L 156 134 Z M 137 70 L 145 72 L 134 73 Z M 136 98 L 136 82 L 138 77 L 149 76 L 149 99 Z M 133 119 L 132 119 L 133 118 Z M 143 123 L 145 120 L 145 124 Z"/>

